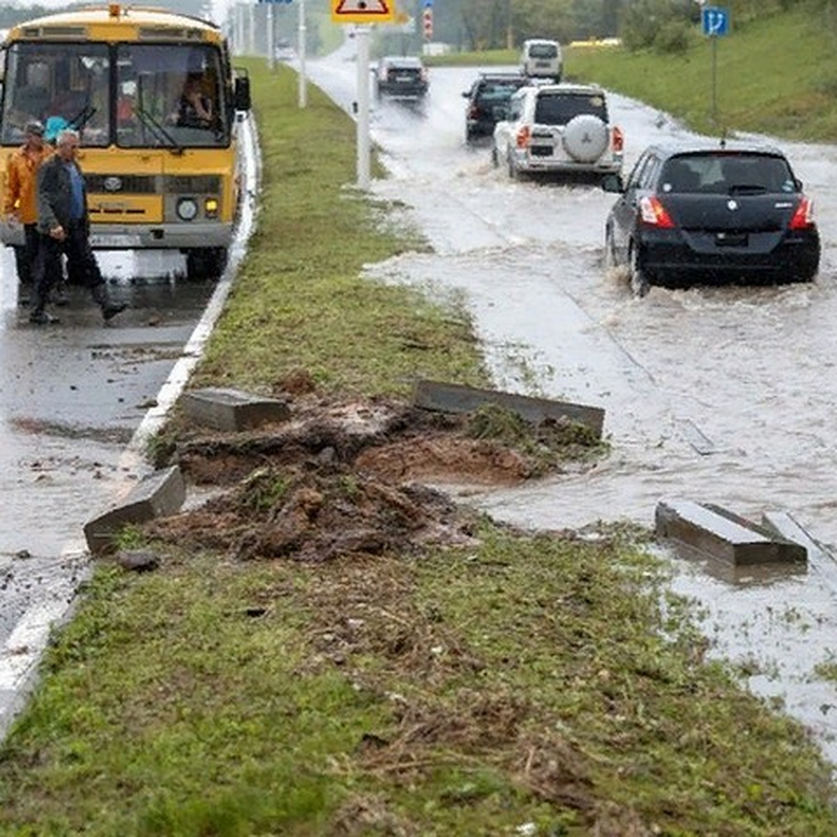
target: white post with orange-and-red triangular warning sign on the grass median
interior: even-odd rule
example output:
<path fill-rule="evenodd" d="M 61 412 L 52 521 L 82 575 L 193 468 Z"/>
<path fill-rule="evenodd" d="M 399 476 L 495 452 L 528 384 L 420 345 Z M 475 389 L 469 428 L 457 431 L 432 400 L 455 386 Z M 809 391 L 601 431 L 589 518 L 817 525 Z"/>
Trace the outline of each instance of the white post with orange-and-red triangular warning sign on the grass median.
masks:
<path fill-rule="evenodd" d="M 359 23 L 355 29 L 357 44 L 357 187 L 368 189 L 370 182 L 369 138 L 369 33 L 370 23 L 392 23 L 393 0 L 331 0 L 334 23 Z"/>

